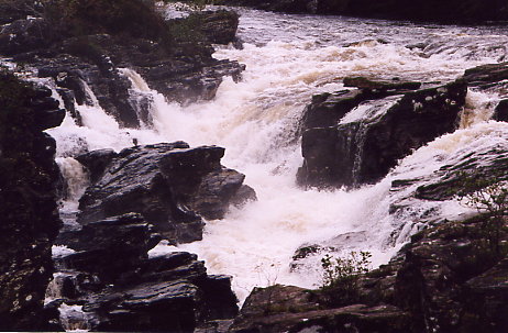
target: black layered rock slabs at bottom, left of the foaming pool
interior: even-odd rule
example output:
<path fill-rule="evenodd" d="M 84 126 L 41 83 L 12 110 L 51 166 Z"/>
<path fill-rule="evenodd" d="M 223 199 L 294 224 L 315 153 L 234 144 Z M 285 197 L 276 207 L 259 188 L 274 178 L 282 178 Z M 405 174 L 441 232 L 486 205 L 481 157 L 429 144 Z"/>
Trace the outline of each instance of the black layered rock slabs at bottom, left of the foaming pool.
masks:
<path fill-rule="evenodd" d="M 140 214 L 89 223 L 60 234 L 76 252 L 56 259 L 54 302 L 79 304 L 78 329 L 194 332 L 208 320 L 238 313 L 230 278 L 208 276 L 197 256 L 174 252 L 148 257 L 161 236 Z"/>

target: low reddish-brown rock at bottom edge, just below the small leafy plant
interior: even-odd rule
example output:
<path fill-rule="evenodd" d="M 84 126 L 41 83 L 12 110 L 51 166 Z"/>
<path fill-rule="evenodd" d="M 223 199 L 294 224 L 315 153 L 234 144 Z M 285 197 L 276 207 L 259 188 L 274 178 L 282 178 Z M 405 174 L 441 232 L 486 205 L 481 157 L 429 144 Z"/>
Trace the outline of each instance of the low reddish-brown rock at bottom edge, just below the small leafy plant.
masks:
<path fill-rule="evenodd" d="M 255 288 L 230 332 L 407 332 L 409 317 L 394 306 L 323 309 L 311 291 Z"/>

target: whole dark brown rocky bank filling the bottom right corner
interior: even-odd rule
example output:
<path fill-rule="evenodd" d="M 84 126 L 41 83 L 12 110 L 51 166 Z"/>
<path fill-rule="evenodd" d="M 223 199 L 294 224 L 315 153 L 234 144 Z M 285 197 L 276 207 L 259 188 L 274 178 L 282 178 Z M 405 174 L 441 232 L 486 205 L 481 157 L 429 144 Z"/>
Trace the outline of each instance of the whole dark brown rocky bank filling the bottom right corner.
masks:
<path fill-rule="evenodd" d="M 413 235 L 388 265 L 360 278 L 355 300 L 341 303 L 340 289 L 255 289 L 231 332 L 503 332 L 506 252 L 486 245 L 486 219 Z"/>

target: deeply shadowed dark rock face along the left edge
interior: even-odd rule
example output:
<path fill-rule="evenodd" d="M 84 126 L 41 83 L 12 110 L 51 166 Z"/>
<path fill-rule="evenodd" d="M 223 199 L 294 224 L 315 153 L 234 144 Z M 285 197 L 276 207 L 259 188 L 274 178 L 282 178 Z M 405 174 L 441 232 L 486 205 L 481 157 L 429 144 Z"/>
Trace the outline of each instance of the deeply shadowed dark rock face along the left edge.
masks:
<path fill-rule="evenodd" d="M 0 70 L 0 330 L 46 331 L 43 301 L 60 220 L 55 141 L 65 111 L 51 91 Z"/>

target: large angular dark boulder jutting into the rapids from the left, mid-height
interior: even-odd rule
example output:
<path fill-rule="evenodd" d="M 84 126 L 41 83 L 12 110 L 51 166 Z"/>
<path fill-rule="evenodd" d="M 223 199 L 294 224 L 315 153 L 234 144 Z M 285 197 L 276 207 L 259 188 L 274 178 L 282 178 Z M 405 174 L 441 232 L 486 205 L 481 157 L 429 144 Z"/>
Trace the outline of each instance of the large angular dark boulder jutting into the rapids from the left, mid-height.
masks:
<path fill-rule="evenodd" d="M 223 154 L 221 147 L 189 148 L 184 142 L 123 149 L 80 199 L 78 221 L 137 212 L 172 243 L 201 240 L 201 217 L 222 219 L 245 191 L 245 176 L 221 166 Z"/>

